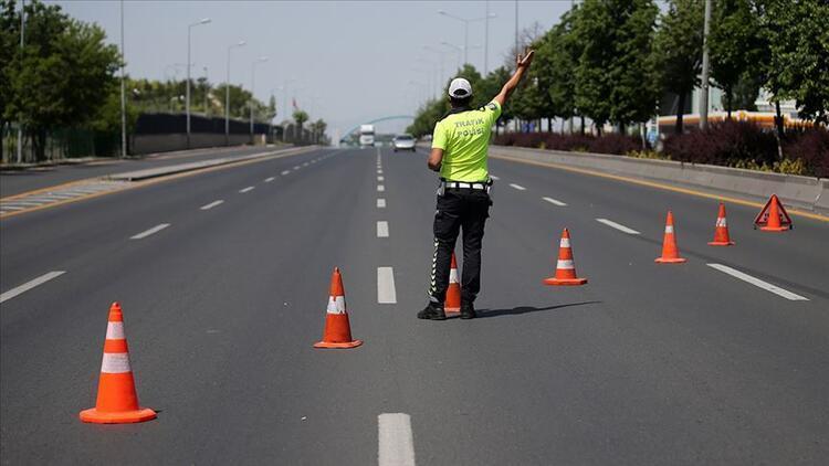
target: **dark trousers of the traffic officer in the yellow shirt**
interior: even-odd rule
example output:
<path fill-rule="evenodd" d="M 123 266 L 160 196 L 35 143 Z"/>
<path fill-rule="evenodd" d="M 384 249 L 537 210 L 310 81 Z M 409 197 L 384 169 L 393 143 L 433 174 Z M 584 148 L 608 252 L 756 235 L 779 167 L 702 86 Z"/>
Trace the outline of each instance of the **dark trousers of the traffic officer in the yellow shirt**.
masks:
<path fill-rule="evenodd" d="M 473 303 L 481 289 L 481 242 L 490 216 L 490 195 L 482 190 L 447 189 L 438 197 L 434 214 L 434 254 L 429 298 L 443 303 L 449 287 L 449 268 L 458 234 L 463 232 L 461 300 Z"/>

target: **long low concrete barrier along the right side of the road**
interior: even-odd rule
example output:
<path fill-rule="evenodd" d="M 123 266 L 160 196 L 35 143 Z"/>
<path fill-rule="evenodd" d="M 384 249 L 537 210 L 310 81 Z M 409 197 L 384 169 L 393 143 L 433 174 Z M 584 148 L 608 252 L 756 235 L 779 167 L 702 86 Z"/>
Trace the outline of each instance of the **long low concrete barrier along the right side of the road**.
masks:
<path fill-rule="evenodd" d="M 739 168 L 636 159 L 605 153 L 492 146 L 490 155 L 594 170 L 602 173 L 684 184 L 753 201 L 776 193 L 786 204 L 829 213 L 829 180 Z"/>

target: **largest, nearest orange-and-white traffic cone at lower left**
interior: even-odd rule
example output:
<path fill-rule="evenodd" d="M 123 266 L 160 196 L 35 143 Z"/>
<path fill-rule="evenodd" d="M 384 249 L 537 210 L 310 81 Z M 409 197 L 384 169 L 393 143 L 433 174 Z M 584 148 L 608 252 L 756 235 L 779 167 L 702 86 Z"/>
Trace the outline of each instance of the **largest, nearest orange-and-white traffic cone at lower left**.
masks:
<path fill-rule="evenodd" d="M 155 411 L 138 406 L 124 333 L 124 314 L 118 303 L 113 303 L 109 308 L 97 402 L 95 407 L 81 411 L 80 415 L 81 421 L 96 424 L 125 424 L 156 419 Z"/>

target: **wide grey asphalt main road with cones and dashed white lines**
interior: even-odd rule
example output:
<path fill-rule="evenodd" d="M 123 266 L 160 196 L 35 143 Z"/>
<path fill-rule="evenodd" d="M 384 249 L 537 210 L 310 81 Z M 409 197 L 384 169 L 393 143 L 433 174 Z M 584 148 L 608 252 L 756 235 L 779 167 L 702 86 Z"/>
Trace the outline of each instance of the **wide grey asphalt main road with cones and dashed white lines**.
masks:
<path fill-rule="evenodd" d="M 762 233 L 728 205 L 737 245 L 711 247 L 709 199 L 492 160 L 481 318 L 421 321 L 436 178 L 422 152 L 382 150 L 378 173 L 378 152 L 321 149 L 0 222 L 0 292 L 65 272 L 0 306 L 0 460 L 826 464 L 829 223 Z M 686 264 L 653 263 L 669 208 Z M 564 226 L 586 286 L 541 284 Z M 334 266 L 357 349 L 312 348 Z M 393 268 L 393 304 L 378 304 L 378 267 Z M 159 411 L 144 424 L 77 420 L 113 300 L 139 399 Z"/>

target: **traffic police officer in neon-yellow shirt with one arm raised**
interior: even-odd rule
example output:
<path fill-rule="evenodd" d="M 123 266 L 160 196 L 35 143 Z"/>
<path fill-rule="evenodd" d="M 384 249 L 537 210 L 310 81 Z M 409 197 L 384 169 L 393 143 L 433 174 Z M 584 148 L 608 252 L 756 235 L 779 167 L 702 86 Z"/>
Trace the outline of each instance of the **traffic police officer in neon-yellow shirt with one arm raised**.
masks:
<path fill-rule="evenodd" d="M 533 51 L 518 55 L 515 73 L 489 104 L 471 108 L 472 86 L 457 77 L 449 85 L 452 109 L 434 125 L 429 169 L 440 172 L 438 210 L 434 214 L 434 254 L 430 277 L 429 304 L 418 313 L 420 319 L 447 318 L 443 301 L 449 287 L 449 267 L 459 233 L 463 232 L 463 275 L 461 277 L 461 318 L 475 317 L 473 303 L 481 289 L 481 241 L 490 216 L 487 148 L 492 126 L 501 108 L 524 77 L 533 61 Z"/>

